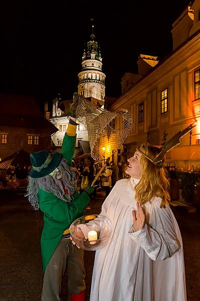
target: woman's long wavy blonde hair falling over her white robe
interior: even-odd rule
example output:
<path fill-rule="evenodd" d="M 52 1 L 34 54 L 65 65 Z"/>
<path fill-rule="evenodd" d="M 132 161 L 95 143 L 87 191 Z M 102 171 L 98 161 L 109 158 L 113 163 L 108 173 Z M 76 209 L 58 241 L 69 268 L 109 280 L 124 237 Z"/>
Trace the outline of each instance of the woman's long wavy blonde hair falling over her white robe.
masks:
<path fill-rule="evenodd" d="M 152 146 L 151 144 L 145 142 L 139 147 L 141 152 L 153 159 L 158 153 L 159 148 Z M 141 177 L 140 181 L 135 185 L 135 199 L 144 205 L 153 197 L 159 197 L 162 199 L 160 208 L 164 207 L 166 203 L 170 200 L 169 196 L 169 182 L 166 177 L 166 171 L 164 168 L 155 166 L 150 162 L 145 156 L 140 157 L 141 165 Z"/>

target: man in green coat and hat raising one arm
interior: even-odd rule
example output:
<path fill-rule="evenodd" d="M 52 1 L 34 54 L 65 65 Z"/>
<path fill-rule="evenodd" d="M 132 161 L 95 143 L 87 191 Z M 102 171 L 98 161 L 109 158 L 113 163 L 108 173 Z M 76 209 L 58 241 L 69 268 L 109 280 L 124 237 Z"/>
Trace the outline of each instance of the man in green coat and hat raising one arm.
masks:
<path fill-rule="evenodd" d="M 60 301 L 62 276 L 67 265 L 71 301 L 83 301 L 85 270 L 83 250 L 69 239 L 70 224 L 80 217 L 90 202 L 93 187 L 80 194 L 75 188 L 76 175 L 71 168 L 75 149 L 76 119 L 69 117 L 60 153 L 41 150 L 30 155 L 27 195 L 35 210 L 43 212 L 41 257 L 43 264 L 42 301 Z"/>

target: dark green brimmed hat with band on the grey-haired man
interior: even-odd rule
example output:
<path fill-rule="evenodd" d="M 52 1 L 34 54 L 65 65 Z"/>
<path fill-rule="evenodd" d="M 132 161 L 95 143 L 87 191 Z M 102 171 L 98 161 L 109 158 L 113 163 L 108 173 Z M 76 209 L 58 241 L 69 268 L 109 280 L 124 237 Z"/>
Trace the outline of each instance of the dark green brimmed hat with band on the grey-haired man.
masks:
<path fill-rule="evenodd" d="M 61 158 L 60 153 L 49 154 L 47 150 L 30 154 L 32 169 L 29 176 L 31 178 L 42 178 L 49 175 L 59 165 Z"/>

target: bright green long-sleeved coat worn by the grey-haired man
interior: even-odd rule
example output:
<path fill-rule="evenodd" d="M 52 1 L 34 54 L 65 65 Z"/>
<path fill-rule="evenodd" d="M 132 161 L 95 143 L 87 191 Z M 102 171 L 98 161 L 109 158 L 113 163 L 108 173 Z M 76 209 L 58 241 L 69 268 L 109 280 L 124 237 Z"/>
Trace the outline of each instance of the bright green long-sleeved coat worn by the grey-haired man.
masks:
<path fill-rule="evenodd" d="M 61 153 L 69 165 L 74 153 L 75 139 L 76 136 L 65 134 L 62 143 Z M 70 224 L 83 214 L 84 209 L 90 202 L 90 198 L 84 191 L 81 194 L 75 191 L 71 202 L 67 203 L 58 199 L 54 194 L 39 189 L 38 199 L 44 221 L 40 240 L 44 272 L 64 230 L 68 229 Z"/>

